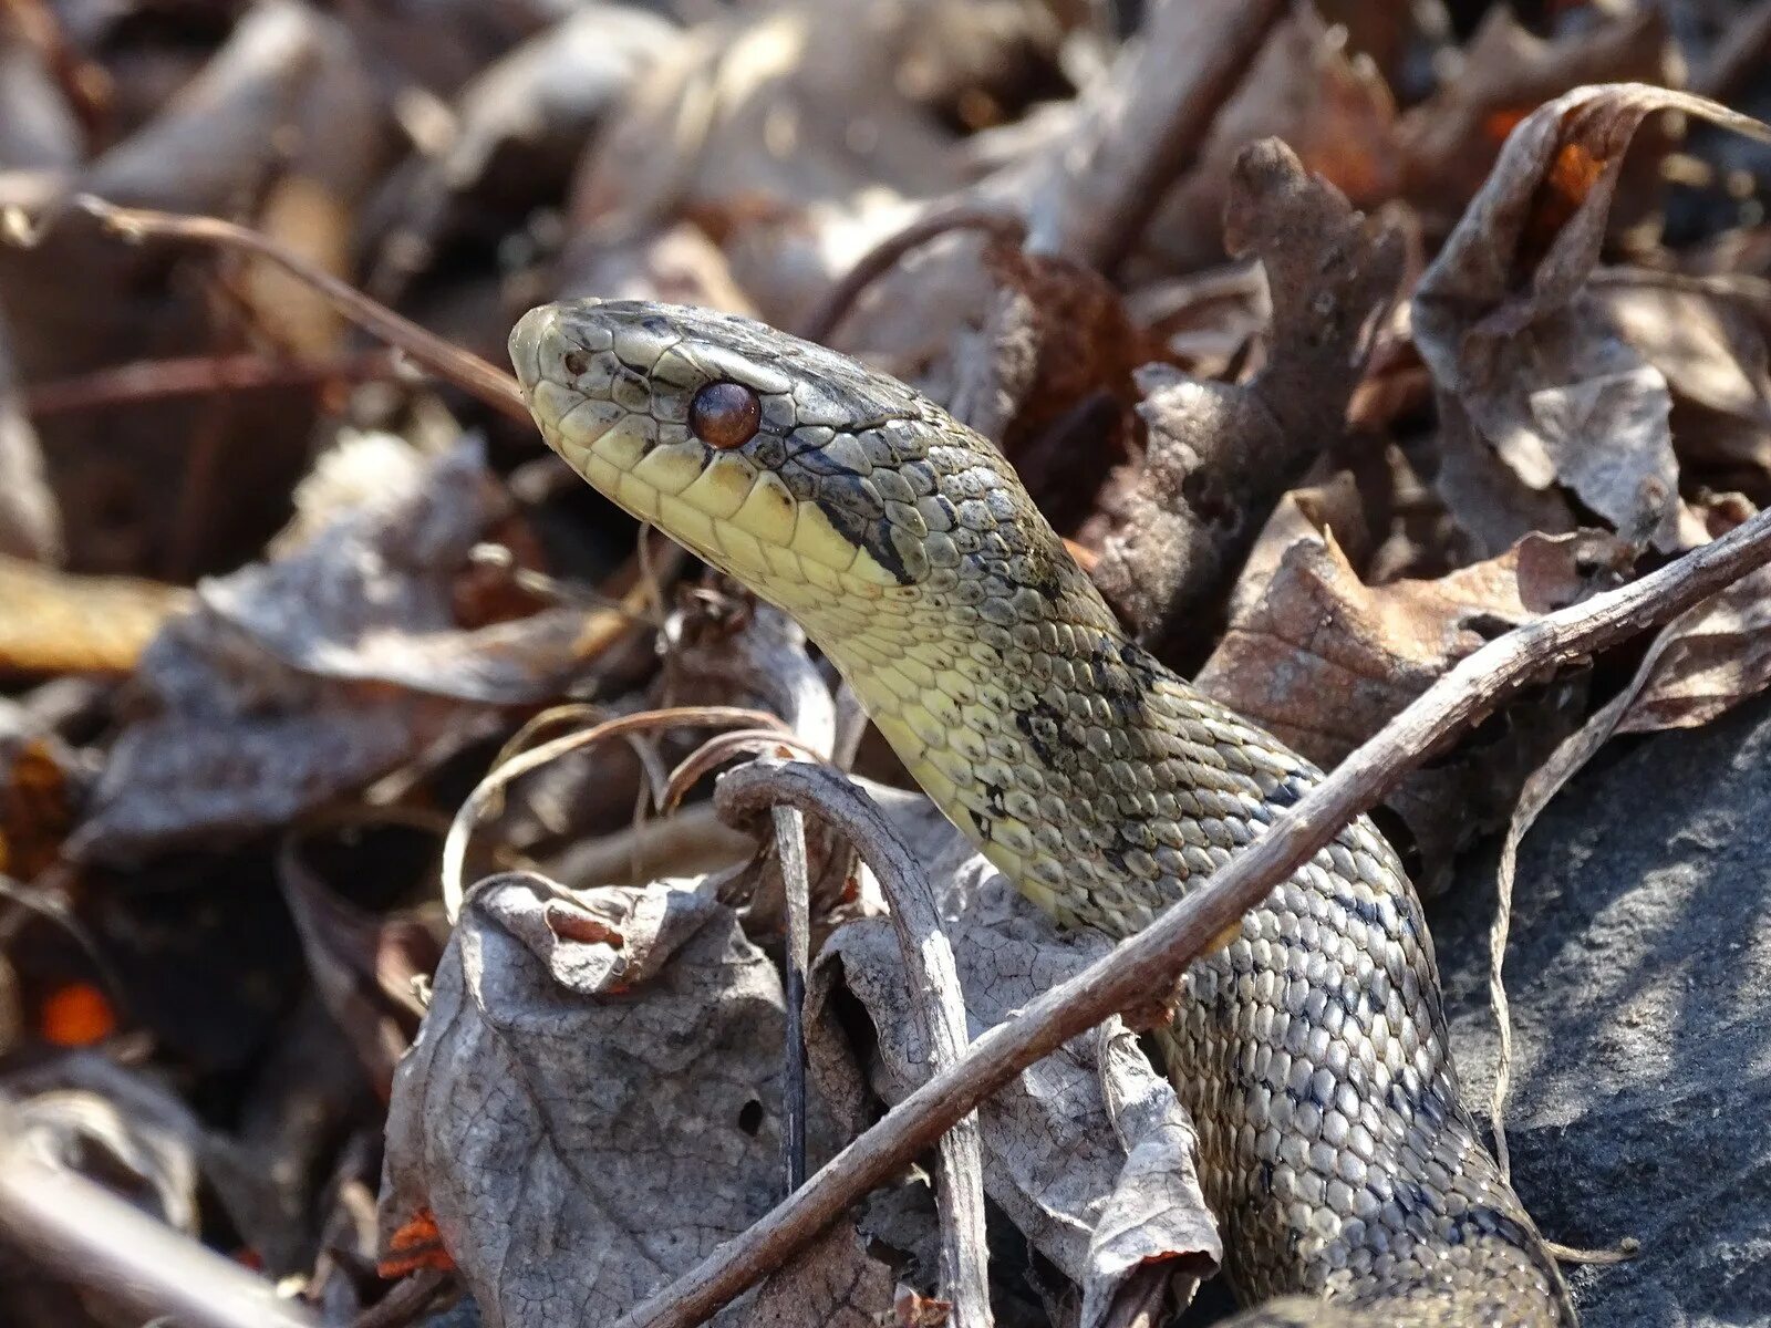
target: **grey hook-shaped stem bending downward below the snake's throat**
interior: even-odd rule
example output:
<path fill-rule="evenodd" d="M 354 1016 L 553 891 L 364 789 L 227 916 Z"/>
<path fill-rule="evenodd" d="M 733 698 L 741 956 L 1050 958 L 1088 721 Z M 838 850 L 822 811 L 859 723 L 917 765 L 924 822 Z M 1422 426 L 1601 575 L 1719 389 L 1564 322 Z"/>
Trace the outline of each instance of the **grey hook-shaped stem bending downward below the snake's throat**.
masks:
<path fill-rule="evenodd" d="M 724 776 L 714 790 L 714 804 L 733 825 L 765 807 L 776 816 L 792 807 L 793 815 L 809 813 L 834 825 L 855 846 L 891 903 L 893 931 L 910 981 L 912 1018 L 928 1046 L 930 1077 L 955 1066 L 965 1054 L 967 1027 L 953 946 L 940 930 L 928 873 L 878 804 L 834 767 L 770 760 Z M 953 1307 L 947 1321 L 955 1328 L 990 1328 L 983 1135 L 976 1114 L 956 1119 L 939 1140 L 935 1202 L 940 1211 L 940 1294 Z"/>

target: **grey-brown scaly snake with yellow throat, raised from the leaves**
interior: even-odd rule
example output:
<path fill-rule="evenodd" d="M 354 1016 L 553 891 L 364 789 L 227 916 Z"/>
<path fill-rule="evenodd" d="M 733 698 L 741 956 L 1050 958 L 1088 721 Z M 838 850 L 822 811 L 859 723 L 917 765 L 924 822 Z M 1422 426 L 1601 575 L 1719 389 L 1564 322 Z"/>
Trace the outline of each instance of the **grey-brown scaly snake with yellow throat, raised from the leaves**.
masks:
<path fill-rule="evenodd" d="M 939 404 L 753 319 L 528 312 L 510 358 L 583 480 L 804 627 L 909 774 L 1059 924 L 1125 938 L 1321 772 L 1119 623 Z M 1194 960 L 1158 1031 L 1247 1324 L 1573 1326 L 1459 1101 L 1420 901 L 1367 820 Z"/>

